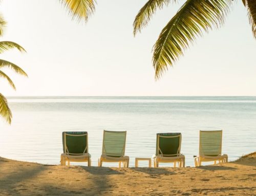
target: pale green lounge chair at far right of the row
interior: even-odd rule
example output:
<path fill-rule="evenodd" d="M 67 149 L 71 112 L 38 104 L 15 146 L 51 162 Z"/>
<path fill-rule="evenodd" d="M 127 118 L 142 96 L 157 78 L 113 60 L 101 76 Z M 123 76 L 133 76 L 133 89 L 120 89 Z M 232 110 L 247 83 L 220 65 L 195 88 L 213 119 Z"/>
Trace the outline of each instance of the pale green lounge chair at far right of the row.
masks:
<path fill-rule="evenodd" d="M 202 162 L 216 161 L 227 162 L 228 156 L 221 155 L 222 130 L 200 130 L 199 156 L 195 158 L 195 166 Z"/>

